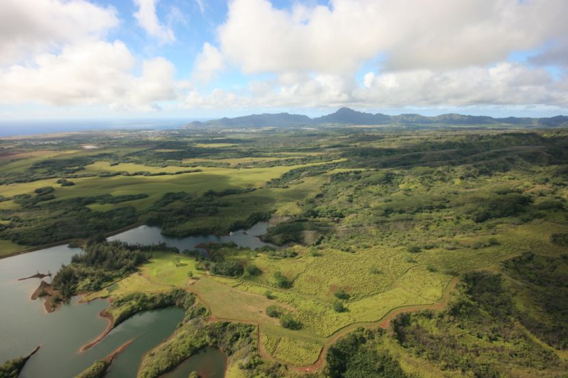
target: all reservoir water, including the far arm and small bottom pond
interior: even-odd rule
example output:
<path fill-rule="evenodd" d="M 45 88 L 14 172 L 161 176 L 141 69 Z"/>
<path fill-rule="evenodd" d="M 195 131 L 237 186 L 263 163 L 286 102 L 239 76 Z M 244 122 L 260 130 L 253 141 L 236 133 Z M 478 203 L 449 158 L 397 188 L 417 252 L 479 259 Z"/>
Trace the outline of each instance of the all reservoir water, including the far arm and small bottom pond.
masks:
<path fill-rule="evenodd" d="M 261 222 L 249 230 L 236 231 L 227 236 L 170 238 L 160 234 L 159 228 L 141 226 L 109 240 L 139 244 L 164 241 L 180 250 L 196 249 L 199 243 L 230 241 L 255 248 L 267 244 L 258 238 L 266 233 L 267 227 L 266 223 Z M 29 277 L 38 271 L 55 273 L 62 264 L 68 264 L 71 257 L 80 252 L 79 248 L 60 245 L 0 259 L 0 364 L 27 355 L 41 345 L 38 353 L 26 363 L 21 374 L 23 378 L 74 377 L 129 340 L 133 342 L 112 362 L 107 377 L 135 377 L 144 353 L 168 338 L 183 319 L 183 310 L 179 308 L 142 312 L 118 325 L 91 349 L 79 353 L 81 346 L 105 330 L 107 320 L 101 318 L 99 312 L 108 306 L 108 301 L 99 299 L 78 303 L 79 298 L 75 297 L 70 303 L 47 314 L 42 299 L 29 299 L 41 280 L 30 278 L 18 281 L 18 278 Z M 49 277 L 43 280 L 50 282 Z M 226 358 L 220 351 L 208 348 L 183 362 L 168 377 L 187 377 L 196 370 L 206 378 L 221 378 L 226 364 Z M 185 371 L 188 373 L 185 374 Z"/>

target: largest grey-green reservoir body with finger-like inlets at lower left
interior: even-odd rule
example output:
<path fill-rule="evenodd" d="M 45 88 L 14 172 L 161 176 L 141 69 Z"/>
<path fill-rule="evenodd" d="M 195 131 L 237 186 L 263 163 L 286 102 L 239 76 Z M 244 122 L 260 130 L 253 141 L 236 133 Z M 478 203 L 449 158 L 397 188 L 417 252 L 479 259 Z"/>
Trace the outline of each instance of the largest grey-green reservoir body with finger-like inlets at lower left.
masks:
<path fill-rule="evenodd" d="M 92 349 L 79 353 L 82 345 L 99 336 L 107 326 L 99 312 L 108 306 L 108 301 L 77 303 L 79 298 L 75 297 L 46 314 L 42 299 L 29 299 L 40 280 L 18 281 L 36 271 L 54 273 L 78 252 L 80 249 L 58 246 L 0 260 L 0 360 L 27 355 L 42 346 L 25 365 L 23 378 L 74 377 L 133 338 L 132 344 L 113 362 L 118 374 L 113 372 L 109 377 L 135 377 L 143 353 L 170 336 L 183 319 L 183 310 L 179 308 L 142 312 L 118 325 Z M 49 278 L 44 280 L 49 282 Z"/>

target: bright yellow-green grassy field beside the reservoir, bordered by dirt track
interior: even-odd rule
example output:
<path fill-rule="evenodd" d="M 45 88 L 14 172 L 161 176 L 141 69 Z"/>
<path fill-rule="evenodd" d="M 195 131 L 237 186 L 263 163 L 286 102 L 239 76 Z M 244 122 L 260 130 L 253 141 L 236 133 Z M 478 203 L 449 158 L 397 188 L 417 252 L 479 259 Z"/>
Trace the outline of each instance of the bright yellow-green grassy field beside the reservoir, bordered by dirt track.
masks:
<path fill-rule="evenodd" d="M 516 248 L 526 243 L 526 240 L 519 237 L 530 237 L 527 230 L 541 236 L 542 243 L 535 244 L 540 246 L 539 249 L 549 254 L 554 253 L 551 252 L 554 247 L 545 243 L 545 230 L 550 233 L 558 229 L 554 224 L 544 223 L 514 228 L 510 235 L 512 244 L 505 247 L 501 245 L 482 256 L 472 254 L 472 249 L 461 251 L 456 259 L 465 264 L 464 258 L 469 256 L 469 269 L 475 269 L 487 267 L 487 259 L 491 256 L 493 266 L 496 266 L 500 254 L 502 258 L 517 254 Z M 384 256 L 389 256 L 386 251 L 383 253 Z M 402 255 L 398 260 L 391 251 L 388 263 L 378 265 L 379 269 L 383 269 L 381 273 L 361 269 L 370 266 L 370 260 L 365 258 L 367 254 L 380 256 L 376 249 L 357 254 L 323 249 L 322 256 L 317 257 L 310 256 L 305 250 L 300 258 L 292 260 L 274 259 L 261 254 L 252 262 L 263 273 L 254 279 L 235 280 L 205 275 L 203 271 L 196 269 L 193 258 L 181 257 L 181 263 L 176 266 L 174 255 L 155 253 L 153 260 L 142 267 L 140 273 L 90 295 L 88 299 L 108 295 L 119 297 L 136 292 L 155 293 L 172 287 L 186 288 L 201 298 L 216 319 L 259 324 L 263 341 L 266 338 L 266 353 L 282 362 L 303 366 L 314 360 L 314 355 L 317 359 L 315 350 L 339 329 L 355 323 L 379 321 L 393 308 L 435 303 L 441 298 L 451 278 L 450 275 L 426 269 L 428 261 L 436 263 L 435 251 L 419 256 L 424 263 L 414 267 L 407 267 L 409 263 L 402 259 L 406 252 L 398 252 L 398 255 Z M 457 255 L 458 252 L 454 254 Z M 345 263 L 341 263 L 342 260 Z M 391 269 L 397 264 L 405 267 Z M 321 267 L 327 267 L 327 270 L 322 270 Z M 283 290 L 274 286 L 272 275 L 276 270 L 294 279 L 291 289 Z M 188 278 L 190 271 L 192 278 Z M 349 271 L 353 272 L 352 275 Z M 357 275 L 358 271 L 361 272 L 360 275 Z M 400 271 L 403 273 L 397 277 L 397 272 Z M 339 288 L 343 288 L 351 297 L 346 301 L 348 310 L 337 313 L 331 308 L 331 303 L 335 301 L 333 293 Z M 270 290 L 272 299 L 265 296 L 267 290 Z M 281 327 L 278 319 L 266 314 L 266 308 L 272 305 L 281 306 L 293 314 L 302 323 L 302 329 L 293 331 Z M 276 339 L 284 341 L 277 342 Z M 294 345 L 299 349 L 292 347 Z M 298 351 L 302 353 L 298 354 Z"/>

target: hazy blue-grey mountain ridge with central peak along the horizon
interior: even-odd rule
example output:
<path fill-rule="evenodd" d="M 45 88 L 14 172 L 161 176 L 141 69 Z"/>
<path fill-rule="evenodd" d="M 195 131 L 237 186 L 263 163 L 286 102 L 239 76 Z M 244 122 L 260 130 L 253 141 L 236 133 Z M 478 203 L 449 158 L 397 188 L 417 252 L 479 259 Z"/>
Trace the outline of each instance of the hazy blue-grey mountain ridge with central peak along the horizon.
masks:
<path fill-rule="evenodd" d="M 568 116 L 547 118 L 468 116 L 458 113 L 446 113 L 439 116 L 422 116 L 416 113 L 388 116 L 383 113 L 365 113 L 348 107 L 341 107 L 326 116 L 309 118 L 303 114 L 261 113 L 235 118 L 219 118 L 206 122 L 194 121 L 185 126 L 187 129 L 205 128 L 259 128 L 289 126 L 326 126 L 326 125 L 393 125 L 393 126 L 467 126 L 467 125 L 503 125 L 523 127 L 568 127 Z"/>

